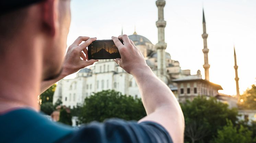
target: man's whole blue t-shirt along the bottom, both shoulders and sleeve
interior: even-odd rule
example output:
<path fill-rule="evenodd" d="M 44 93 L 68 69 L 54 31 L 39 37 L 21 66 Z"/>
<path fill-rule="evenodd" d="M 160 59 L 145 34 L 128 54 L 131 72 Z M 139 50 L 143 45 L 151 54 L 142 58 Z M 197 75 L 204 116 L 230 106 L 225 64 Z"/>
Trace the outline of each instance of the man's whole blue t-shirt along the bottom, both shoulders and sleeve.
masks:
<path fill-rule="evenodd" d="M 74 129 L 31 109 L 0 115 L 0 143 L 172 143 L 161 125 L 109 119 Z"/>

